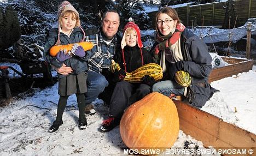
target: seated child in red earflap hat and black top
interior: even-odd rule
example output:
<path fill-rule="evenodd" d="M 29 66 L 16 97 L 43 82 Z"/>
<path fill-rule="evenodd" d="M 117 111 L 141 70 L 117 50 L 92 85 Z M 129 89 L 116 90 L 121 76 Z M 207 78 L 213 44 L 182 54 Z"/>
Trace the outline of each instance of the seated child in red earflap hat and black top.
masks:
<path fill-rule="evenodd" d="M 126 107 L 142 99 L 150 93 L 150 85 L 144 83 L 131 83 L 124 79 L 126 72 L 131 72 L 144 64 L 152 63 L 152 56 L 143 48 L 139 27 L 128 22 L 124 27 L 121 50 L 115 56 L 115 62 L 120 70 L 115 71 L 114 81 L 117 82 L 109 105 L 109 118 L 104 120 L 99 131 L 106 132 L 119 125 L 121 116 Z M 147 75 L 148 76 L 148 75 Z M 149 77 L 149 76 L 148 76 Z M 148 78 L 150 79 L 150 77 Z M 152 80 L 152 79 L 150 79 Z"/>

